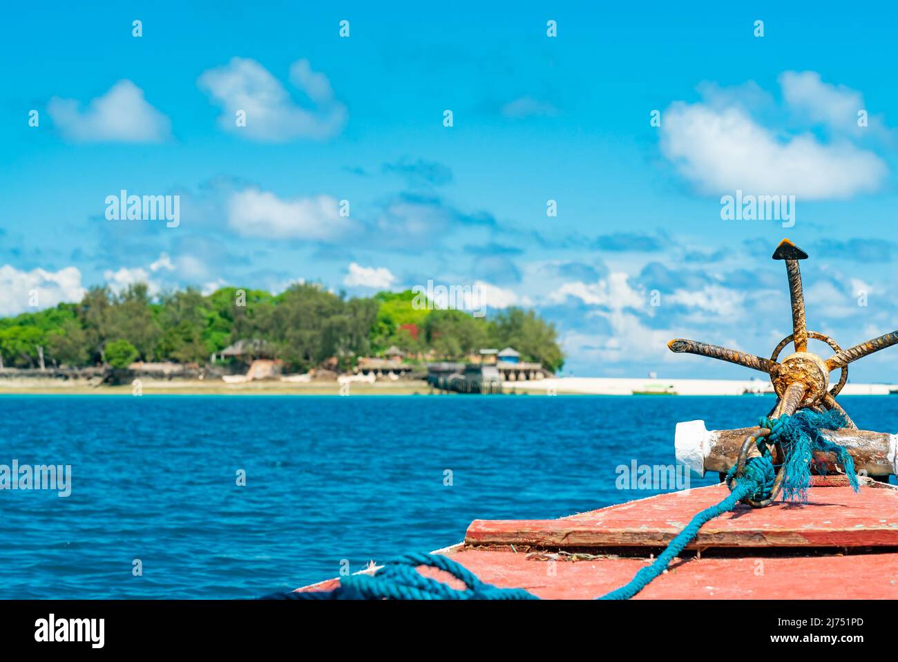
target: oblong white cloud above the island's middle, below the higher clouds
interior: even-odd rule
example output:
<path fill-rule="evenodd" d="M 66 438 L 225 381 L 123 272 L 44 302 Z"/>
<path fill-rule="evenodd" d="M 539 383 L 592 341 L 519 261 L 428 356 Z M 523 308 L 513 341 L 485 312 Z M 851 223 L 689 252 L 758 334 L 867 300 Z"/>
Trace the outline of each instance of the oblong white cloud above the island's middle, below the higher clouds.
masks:
<path fill-rule="evenodd" d="M 330 196 L 282 200 L 259 189 L 233 194 L 227 218 L 238 234 L 269 239 L 328 241 L 352 226 L 348 217 L 339 215 L 338 201 Z"/>

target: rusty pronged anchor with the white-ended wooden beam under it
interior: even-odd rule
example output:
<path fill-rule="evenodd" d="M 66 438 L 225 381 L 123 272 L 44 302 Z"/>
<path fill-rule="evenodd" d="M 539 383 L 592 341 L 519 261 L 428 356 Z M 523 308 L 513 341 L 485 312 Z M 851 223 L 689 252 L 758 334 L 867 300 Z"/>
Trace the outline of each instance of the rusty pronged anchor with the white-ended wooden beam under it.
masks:
<path fill-rule="evenodd" d="M 792 334 L 780 340 L 770 358 L 696 340 L 675 339 L 667 347 L 677 353 L 717 358 L 770 375 L 770 382 L 777 394 L 776 405 L 769 414 L 770 419 L 791 416 L 802 409 L 839 411 L 845 417 L 847 427 L 826 431 L 825 436 L 849 449 L 858 471 L 887 481 L 890 474 L 898 474 L 898 435 L 859 430 L 848 412 L 836 402 L 836 396 L 848 381 L 848 365 L 858 358 L 898 344 L 898 331 L 886 333 L 849 349 L 841 349 L 835 340 L 823 333 L 808 331 L 801 269 L 798 265 L 799 260 L 807 259 L 807 253 L 788 239 L 783 239 L 773 252 L 773 259 L 786 262 L 792 307 Z M 832 357 L 823 359 L 808 351 L 808 339 L 825 342 L 834 352 Z M 779 354 L 790 342 L 795 351 L 779 361 Z M 830 373 L 836 369 L 841 370 L 841 375 L 831 388 Z M 747 457 L 760 455 L 754 442 L 768 435 L 768 428 L 708 431 L 704 421 L 686 421 L 677 424 L 674 446 L 677 461 L 703 476 L 706 471 L 726 472 L 733 464 L 744 463 Z M 784 455 L 782 449 L 770 444 L 768 448 L 774 462 L 781 463 Z M 833 467 L 832 458 L 816 457 L 815 461 L 820 466 Z"/>

